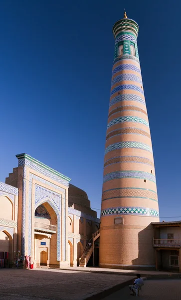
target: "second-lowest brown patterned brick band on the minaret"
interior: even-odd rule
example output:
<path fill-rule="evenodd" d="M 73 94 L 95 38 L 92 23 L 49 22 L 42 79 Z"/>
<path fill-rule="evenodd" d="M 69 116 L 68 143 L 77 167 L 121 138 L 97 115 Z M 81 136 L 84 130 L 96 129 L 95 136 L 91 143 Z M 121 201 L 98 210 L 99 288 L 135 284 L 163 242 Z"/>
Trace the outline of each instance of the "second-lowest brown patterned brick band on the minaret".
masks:
<path fill-rule="evenodd" d="M 154 162 L 146 157 L 141 157 L 141 156 L 118 156 L 118 157 L 113 157 L 108 159 L 105 163 L 104 163 L 104 167 L 108 166 L 109 164 L 112 163 L 120 163 L 120 162 L 133 162 L 133 163 L 145 163 L 145 164 L 149 164 L 151 166 L 154 166 Z"/>

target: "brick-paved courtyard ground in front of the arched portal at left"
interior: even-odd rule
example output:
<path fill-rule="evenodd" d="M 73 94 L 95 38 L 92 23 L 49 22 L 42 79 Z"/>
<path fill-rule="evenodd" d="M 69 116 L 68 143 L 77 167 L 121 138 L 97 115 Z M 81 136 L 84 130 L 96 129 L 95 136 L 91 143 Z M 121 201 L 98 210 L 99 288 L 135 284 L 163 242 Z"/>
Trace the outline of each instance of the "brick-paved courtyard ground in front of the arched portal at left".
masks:
<path fill-rule="evenodd" d="M 83 300 L 118 284 L 127 285 L 134 277 L 59 269 L 0 269 L 0 300 Z"/>

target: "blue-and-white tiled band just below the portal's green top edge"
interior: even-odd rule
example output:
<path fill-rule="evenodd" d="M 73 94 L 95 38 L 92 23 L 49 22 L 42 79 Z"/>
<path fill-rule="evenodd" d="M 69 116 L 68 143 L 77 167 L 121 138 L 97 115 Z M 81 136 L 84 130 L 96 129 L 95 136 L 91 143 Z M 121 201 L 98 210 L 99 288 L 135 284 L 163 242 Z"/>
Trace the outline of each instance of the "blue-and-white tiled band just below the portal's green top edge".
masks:
<path fill-rule="evenodd" d="M 32 162 L 31 160 L 27 159 L 27 158 L 19 158 L 18 159 L 18 166 L 28 166 L 31 169 L 39 172 L 42 175 L 45 175 L 49 178 L 51 178 L 52 180 L 55 180 L 65 186 L 68 186 L 68 181 L 53 174 L 51 171 L 45 169 L 44 167 Z"/>

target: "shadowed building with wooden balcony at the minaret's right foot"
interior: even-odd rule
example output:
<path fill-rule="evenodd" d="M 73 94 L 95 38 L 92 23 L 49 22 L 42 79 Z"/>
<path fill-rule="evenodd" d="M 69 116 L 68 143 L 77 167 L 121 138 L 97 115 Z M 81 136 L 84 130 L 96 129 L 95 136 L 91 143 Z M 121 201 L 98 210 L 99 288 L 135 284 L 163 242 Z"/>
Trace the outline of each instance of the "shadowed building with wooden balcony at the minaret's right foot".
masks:
<path fill-rule="evenodd" d="M 181 221 L 154 222 L 152 225 L 156 269 L 181 272 Z"/>

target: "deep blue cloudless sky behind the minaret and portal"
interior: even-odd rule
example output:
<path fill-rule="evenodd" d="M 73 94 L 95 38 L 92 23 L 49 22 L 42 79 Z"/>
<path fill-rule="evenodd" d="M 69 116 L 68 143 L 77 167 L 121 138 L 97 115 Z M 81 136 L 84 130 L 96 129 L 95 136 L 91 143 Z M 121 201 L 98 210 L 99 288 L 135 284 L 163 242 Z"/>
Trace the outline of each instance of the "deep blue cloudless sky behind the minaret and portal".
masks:
<path fill-rule="evenodd" d="M 112 26 L 125 7 L 140 26 L 160 215 L 181 215 L 181 1 L 123 2 L 0 0 L 0 181 L 26 152 L 100 208 Z"/>

